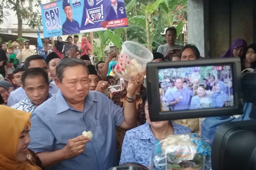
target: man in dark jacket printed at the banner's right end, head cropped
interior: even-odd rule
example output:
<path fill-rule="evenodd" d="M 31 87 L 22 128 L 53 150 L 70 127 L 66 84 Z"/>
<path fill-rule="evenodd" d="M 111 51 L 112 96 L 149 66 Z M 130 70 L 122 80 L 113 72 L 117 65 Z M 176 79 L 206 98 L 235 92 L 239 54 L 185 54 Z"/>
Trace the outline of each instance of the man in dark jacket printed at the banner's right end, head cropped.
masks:
<path fill-rule="evenodd" d="M 118 0 L 110 0 L 106 8 L 106 21 L 126 18 L 125 4 Z"/>

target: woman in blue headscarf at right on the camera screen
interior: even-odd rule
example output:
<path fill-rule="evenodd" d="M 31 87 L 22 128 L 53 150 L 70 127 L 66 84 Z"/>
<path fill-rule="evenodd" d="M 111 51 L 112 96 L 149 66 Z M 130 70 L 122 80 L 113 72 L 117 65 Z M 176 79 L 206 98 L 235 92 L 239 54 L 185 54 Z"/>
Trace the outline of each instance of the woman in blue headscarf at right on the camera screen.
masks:
<path fill-rule="evenodd" d="M 223 107 L 225 102 L 229 101 L 229 97 L 226 94 L 227 88 L 223 81 L 217 81 L 215 84 L 215 93 L 213 94 L 213 104 L 215 107 Z"/>

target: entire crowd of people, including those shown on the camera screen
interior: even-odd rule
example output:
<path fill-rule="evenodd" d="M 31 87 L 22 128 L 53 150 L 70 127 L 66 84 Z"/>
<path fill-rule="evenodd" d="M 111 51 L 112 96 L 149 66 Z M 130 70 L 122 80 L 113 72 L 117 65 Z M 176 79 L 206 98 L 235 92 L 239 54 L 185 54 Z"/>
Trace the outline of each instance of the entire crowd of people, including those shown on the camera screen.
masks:
<path fill-rule="evenodd" d="M 175 44 L 175 39 L 176 29 L 168 28 L 167 43 L 153 52 L 152 62 L 201 59 L 195 45 Z M 104 91 L 119 80 L 111 63 L 117 53 L 111 51 L 106 61 L 95 63 L 86 37 L 81 44 L 77 36 L 67 40 L 64 44 L 59 36 L 53 47 L 44 38 L 46 58 L 35 54 L 29 40 L 24 48 L 18 48 L 17 41 L 9 48 L 2 44 L 0 169 L 109 169 L 128 162 L 148 167 L 157 141 L 171 134 L 198 132 L 174 121 L 150 121 L 145 71 L 125 81 L 124 89 L 106 95 Z M 237 39 L 222 57 L 240 57 L 243 68 L 254 69 L 255 52 L 256 44 L 247 47 Z M 169 79 L 162 100 L 170 109 L 202 108 L 201 98 L 216 107 L 228 101 L 227 87 L 214 75 L 197 83 L 188 78 Z M 250 108 L 245 104 L 243 115 L 250 115 Z M 205 122 L 202 137 L 211 143 L 219 123 L 213 118 Z M 195 124 L 199 126 L 198 121 Z M 92 131 L 93 138 L 84 137 L 83 131 Z"/>

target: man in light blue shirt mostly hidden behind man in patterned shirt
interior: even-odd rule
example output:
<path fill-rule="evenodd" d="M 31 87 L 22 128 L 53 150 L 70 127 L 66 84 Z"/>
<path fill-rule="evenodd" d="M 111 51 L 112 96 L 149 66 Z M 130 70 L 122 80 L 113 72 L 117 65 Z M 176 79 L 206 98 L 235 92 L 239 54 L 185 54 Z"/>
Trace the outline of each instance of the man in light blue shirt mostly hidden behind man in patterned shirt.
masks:
<path fill-rule="evenodd" d="M 44 69 L 46 72 L 49 71 L 49 69 L 46 66 L 44 57 L 42 57 L 40 55 L 31 55 L 28 58 L 26 58 L 24 67 L 25 67 L 25 70 L 27 70 L 29 68 L 39 67 L 39 68 Z M 51 94 L 53 96 L 57 93 L 58 90 L 59 89 L 55 84 L 50 83 L 49 94 Z M 12 106 L 12 105 L 24 100 L 26 97 L 27 97 L 27 95 L 26 95 L 25 90 L 22 87 L 19 87 L 18 89 L 14 90 L 10 93 L 7 105 Z"/>

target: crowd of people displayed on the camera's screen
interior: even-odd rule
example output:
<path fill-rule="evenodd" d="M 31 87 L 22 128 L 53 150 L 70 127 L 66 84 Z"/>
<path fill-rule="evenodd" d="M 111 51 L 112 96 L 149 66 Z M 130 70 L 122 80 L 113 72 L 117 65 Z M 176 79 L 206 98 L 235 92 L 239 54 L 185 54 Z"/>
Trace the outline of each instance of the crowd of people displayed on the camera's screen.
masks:
<path fill-rule="evenodd" d="M 232 79 L 232 77 L 230 78 Z M 229 80 L 231 81 L 231 79 Z M 168 103 L 167 111 L 223 107 L 227 104 L 226 102 L 232 102 L 232 99 L 229 98 L 229 96 L 232 98 L 232 85 L 225 86 L 224 81 L 215 80 L 214 75 L 203 78 L 203 81 L 193 80 L 193 83 L 190 81 L 191 79 L 181 77 L 167 80 L 171 83 L 160 82 L 159 87 L 161 102 Z"/>

